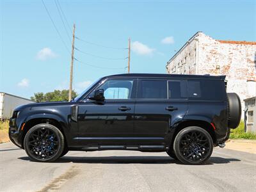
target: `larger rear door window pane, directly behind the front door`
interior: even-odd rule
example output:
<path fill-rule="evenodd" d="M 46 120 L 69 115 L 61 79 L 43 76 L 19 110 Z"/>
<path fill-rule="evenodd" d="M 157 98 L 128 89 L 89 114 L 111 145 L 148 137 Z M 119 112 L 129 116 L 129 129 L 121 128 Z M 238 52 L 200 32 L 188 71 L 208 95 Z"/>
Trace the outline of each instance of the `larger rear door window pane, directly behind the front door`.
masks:
<path fill-rule="evenodd" d="M 139 99 L 167 99 L 167 82 L 164 80 L 141 80 Z"/>

